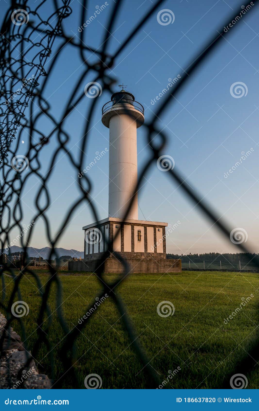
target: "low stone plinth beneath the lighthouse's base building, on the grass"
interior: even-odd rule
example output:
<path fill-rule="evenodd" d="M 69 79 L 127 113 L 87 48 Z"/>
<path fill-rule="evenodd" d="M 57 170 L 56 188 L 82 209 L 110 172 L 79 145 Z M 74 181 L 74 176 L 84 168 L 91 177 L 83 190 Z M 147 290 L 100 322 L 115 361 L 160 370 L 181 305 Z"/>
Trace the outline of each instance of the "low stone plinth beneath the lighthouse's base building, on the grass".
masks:
<path fill-rule="evenodd" d="M 163 273 L 181 272 L 181 260 L 174 259 L 127 259 L 131 266 L 130 273 Z M 103 264 L 104 273 L 121 274 L 124 271 L 122 264 L 115 258 L 109 257 Z M 69 261 L 69 271 L 95 271 L 101 265 L 101 260 Z"/>

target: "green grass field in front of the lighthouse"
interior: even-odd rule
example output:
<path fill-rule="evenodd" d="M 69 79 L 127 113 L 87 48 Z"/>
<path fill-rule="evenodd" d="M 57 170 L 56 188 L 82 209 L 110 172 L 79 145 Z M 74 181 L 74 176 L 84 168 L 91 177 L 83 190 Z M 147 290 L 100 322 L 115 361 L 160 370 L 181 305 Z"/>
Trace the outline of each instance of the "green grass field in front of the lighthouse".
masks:
<path fill-rule="evenodd" d="M 67 272 L 64 272 L 64 274 Z M 37 272 L 42 284 L 46 273 Z M 109 281 L 115 275 L 105 276 Z M 70 328 L 85 314 L 85 308 L 100 289 L 94 275 L 73 273 L 60 275 L 63 286 L 62 310 Z M 6 298 L 12 289 L 11 278 L 5 276 Z M 237 359 L 245 354 L 255 337 L 258 324 L 258 274 L 236 272 L 187 272 L 180 274 L 134 274 L 121 283 L 118 292 L 126 303 L 137 335 L 151 365 L 162 381 L 169 370 L 181 369 L 165 388 L 219 388 L 223 377 L 231 372 Z M 53 312 L 50 342 L 55 358 L 55 379 L 62 375 L 62 364 L 57 349 L 64 333 L 56 316 L 56 289 L 51 289 L 48 300 Z M 24 316 L 28 346 L 37 337 L 36 319 L 41 295 L 35 280 L 25 276 L 21 282 L 22 300 L 30 312 Z M 250 294 L 254 298 L 225 324 L 226 319 Z M 18 300 L 18 298 L 17 298 Z M 173 316 L 162 318 L 157 313 L 161 301 L 170 301 L 175 307 Z M 44 329 L 45 324 L 42 328 Z M 21 334 L 18 321 L 13 328 Z M 102 388 L 145 388 L 147 376 L 135 356 L 119 314 L 108 298 L 96 310 L 89 325 L 77 339 L 75 367 L 80 384 L 68 383 L 64 388 L 85 388 L 88 374 L 99 374 Z M 50 375 L 48 350 L 41 346 L 36 360 L 44 373 Z M 39 367 L 40 367 L 39 365 Z M 55 388 L 55 386 L 54 386 Z M 258 366 L 248 376 L 247 388 L 259 388 Z"/>

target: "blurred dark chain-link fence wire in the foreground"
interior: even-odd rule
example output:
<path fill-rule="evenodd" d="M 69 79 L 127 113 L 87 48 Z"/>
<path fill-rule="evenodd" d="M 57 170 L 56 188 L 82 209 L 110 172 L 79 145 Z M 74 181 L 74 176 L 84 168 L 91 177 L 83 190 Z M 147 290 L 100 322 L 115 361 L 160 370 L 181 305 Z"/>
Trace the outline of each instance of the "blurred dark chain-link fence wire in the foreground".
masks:
<path fill-rule="evenodd" d="M 82 322 L 77 327 L 72 330 L 69 328 L 66 320 L 64 319 L 62 311 L 62 286 L 60 278 L 58 276 L 59 267 L 53 267 L 51 265 L 51 260 L 57 258 L 55 254 L 55 247 L 57 242 L 64 234 L 64 230 L 71 221 L 73 213 L 82 204 L 87 204 L 90 208 L 93 216 L 93 221 L 99 221 L 98 212 L 92 201 L 91 192 L 93 189 L 93 184 L 90 178 L 85 174 L 81 178 L 78 178 L 78 185 L 80 187 L 80 198 L 74 202 L 71 202 L 69 210 L 62 221 L 62 224 L 58 230 L 58 234 L 53 238 L 51 236 L 50 225 L 51 222 L 46 215 L 46 211 L 51 205 L 50 196 L 48 193 L 48 182 L 50 176 L 55 168 L 57 157 L 62 154 L 69 158 L 75 171 L 80 174 L 83 170 L 84 153 L 87 152 L 87 142 L 90 139 L 90 129 L 92 126 L 93 113 L 96 109 L 97 99 L 92 99 L 89 102 L 89 107 L 87 109 L 86 121 L 82 133 L 82 138 L 80 139 L 80 157 L 74 158 L 69 150 L 68 143 L 71 140 L 71 136 L 66 132 L 64 127 L 64 120 L 69 118 L 69 115 L 73 111 L 74 107 L 85 97 L 85 93 L 82 92 L 78 96 L 78 90 L 83 89 L 85 77 L 89 73 L 93 74 L 93 81 L 98 81 L 101 83 L 104 92 L 110 96 L 113 90 L 112 85 L 115 83 L 115 79 L 108 74 L 109 69 L 116 64 L 116 60 L 119 58 L 121 53 L 124 51 L 125 47 L 131 42 L 131 40 L 138 34 L 142 29 L 143 25 L 148 21 L 148 19 L 153 16 L 158 10 L 158 7 L 162 5 L 164 0 L 159 0 L 152 5 L 149 12 L 144 15 L 140 22 L 132 28 L 124 42 L 120 44 L 119 48 L 114 54 L 110 55 L 108 53 L 108 46 L 110 44 L 111 36 L 110 33 L 113 32 L 113 28 L 118 20 L 119 11 L 123 6 L 123 0 L 114 1 L 112 5 L 112 10 L 110 12 L 109 21 L 104 32 L 103 40 L 101 42 L 101 47 L 98 49 L 93 48 L 85 44 L 85 38 L 87 30 L 82 30 L 79 37 L 76 38 L 66 34 L 66 17 L 72 13 L 71 0 L 41 0 L 39 5 L 34 2 L 25 1 L 11 1 L 10 7 L 4 16 L 4 21 L 1 28 L 1 38 L 0 38 L 0 242 L 1 242 L 1 252 L 2 256 L 5 252 L 4 249 L 7 244 L 10 244 L 10 232 L 14 228 L 18 228 L 19 232 L 23 231 L 23 210 L 21 204 L 21 197 L 23 195 L 23 190 L 25 183 L 28 181 L 31 175 L 37 176 L 40 181 L 40 188 L 37 191 L 34 199 L 34 204 L 37 209 L 32 221 L 37 222 L 39 218 L 43 218 L 44 226 L 46 229 L 46 235 L 50 244 L 50 253 L 48 256 L 48 263 L 50 265 L 50 274 L 48 281 L 43 288 L 39 276 L 33 270 L 30 270 L 26 266 L 26 251 L 30 246 L 32 233 L 34 231 L 35 224 L 30 227 L 28 235 L 21 236 L 21 244 L 23 247 L 24 254 L 21 261 L 21 269 L 18 274 L 10 267 L 10 264 L 2 258 L 2 269 L 0 270 L 0 276 L 2 280 L 2 299 L 0 302 L 0 307 L 4 309 L 7 313 L 7 326 L 6 330 L 11 326 L 11 324 L 17 320 L 21 324 L 22 329 L 22 340 L 24 341 L 25 352 L 27 355 L 27 363 L 21 369 L 30 365 L 32 358 L 37 358 L 37 354 L 41 345 L 46 345 L 48 349 L 48 357 L 52 370 L 52 378 L 54 378 L 54 356 L 53 350 L 55 347 L 52 346 L 49 340 L 49 331 L 52 326 L 53 315 L 50 312 L 48 306 L 48 298 L 50 295 L 50 288 L 55 284 L 57 293 L 57 318 L 62 327 L 66 338 L 63 340 L 61 348 L 58 350 L 58 354 L 62 359 L 63 370 L 62 378 L 55 382 L 55 388 L 61 388 L 69 381 L 74 388 L 78 388 L 78 381 L 75 372 L 75 361 L 76 361 L 76 340 L 80 335 L 80 332 L 84 328 L 89 327 L 89 320 L 97 310 L 93 310 L 94 304 L 96 302 L 95 298 L 100 299 L 108 294 L 115 306 L 118 309 L 121 321 L 128 333 L 129 340 L 137 354 L 140 362 L 144 367 L 144 372 L 147 374 L 147 387 L 146 388 L 156 388 L 159 386 L 159 381 L 157 374 L 150 364 L 150 360 L 147 357 L 144 348 L 141 346 L 139 339 L 137 338 L 133 323 L 130 316 L 126 313 L 126 307 L 123 300 L 118 294 L 118 288 L 122 281 L 125 281 L 130 271 L 130 267 L 127 261 L 117 252 L 112 251 L 112 243 L 108 243 L 108 251 L 115 254 L 115 257 L 121 262 L 124 267 L 123 274 L 119 275 L 118 278 L 112 283 L 108 284 L 102 274 L 102 265 L 96 269 L 95 273 L 99 279 L 100 292 L 98 296 L 94 296 L 92 303 L 86 308 L 85 312 L 82 312 L 82 316 L 86 312 L 91 314 L 87 316 L 86 320 Z M 249 3 L 250 4 L 250 3 Z M 254 5 L 258 2 L 255 0 Z M 48 5 L 48 10 L 50 10 L 50 16 L 46 20 L 45 13 L 43 12 L 44 7 Z M 88 1 L 83 0 L 80 8 L 81 24 L 83 25 L 87 20 L 87 6 Z M 203 49 L 197 53 L 197 58 L 188 66 L 188 69 L 183 73 L 181 79 L 174 85 L 171 93 L 168 93 L 164 97 L 163 102 L 156 109 L 153 118 L 149 122 L 145 122 L 143 127 L 145 128 L 147 145 L 149 150 L 149 159 L 146 164 L 142 167 L 142 170 L 138 177 L 138 184 L 135 187 L 135 194 L 141 189 L 143 179 L 149 169 L 154 163 L 157 162 L 158 158 L 163 155 L 163 148 L 167 142 L 168 136 L 164 129 L 160 129 L 157 125 L 158 117 L 167 109 L 173 102 L 174 97 L 179 94 L 184 87 L 187 86 L 188 81 L 192 79 L 195 71 L 201 67 L 202 64 L 206 62 L 215 51 L 215 48 L 220 46 L 224 37 L 228 36 L 228 32 L 225 33 L 223 28 L 229 24 L 230 21 L 235 18 L 240 9 L 243 9 L 242 3 L 237 7 L 236 11 L 233 12 L 232 16 L 226 18 L 219 28 L 216 36 L 209 38 L 204 45 Z M 248 6 L 248 5 L 247 5 Z M 247 7 L 246 6 L 246 7 Z M 17 14 L 17 9 L 23 10 L 23 15 L 21 13 Z M 19 11 L 19 10 L 18 10 Z M 253 7 L 248 13 L 255 13 L 256 8 Z M 44 17 L 43 17 L 44 16 Z M 28 19 L 27 24 L 20 25 L 21 19 Z M 14 23 L 16 22 L 16 23 Z M 238 25 L 238 21 L 236 22 Z M 238 28 L 233 28 L 237 30 Z M 53 43 L 55 38 L 62 40 L 57 51 L 53 55 Z M 71 88 L 71 92 L 67 101 L 64 105 L 64 110 L 60 120 L 57 120 L 53 115 L 50 104 L 44 95 L 46 92 L 46 87 L 48 85 L 48 80 L 50 74 L 53 72 L 55 64 L 60 57 L 60 53 L 63 48 L 67 46 L 73 46 L 79 52 L 82 65 L 85 68 L 81 76 L 78 77 L 76 84 Z M 86 55 L 91 53 L 96 57 L 95 63 L 87 62 Z M 48 70 L 44 69 L 46 62 L 49 61 Z M 20 84 L 23 86 L 18 89 Z M 19 95 L 18 99 L 14 99 L 14 95 Z M 37 108 L 37 109 L 36 109 Z M 131 115 L 128 112 L 128 115 Z M 41 120 L 50 119 L 55 127 L 49 134 L 44 134 L 39 126 Z M 25 159 L 16 159 L 17 149 L 19 143 L 22 139 L 23 133 L 26 133 L 29 138 L 29 148 L 25 156 Z M 44 150 L 44 146 L 50 140 L 57 136 L 56 148 L 54 152 L 50 154 L 50 167 L 46 173 L 41 171 L 41 162 L 39 160 L 39 155 Z M 28 164 L 26 161 L 28 160 Z M 14 167 L 14 162 L 16 161 L 16 168 Z M 20 169 L 23 167 L 26 171 L 20 173 Z M 218 215 L 216 210 L 213 210 L 211 205 L 206 203 L 202 196 L 197 193 L 194 187 L 190 187 L 190 184 L 186 183 L 185 179 L 182 177 L 180 171 L 174 167 L 169 173 L 166 173 L 172 182 L 176 182 L 178 187 L 181 187 L 183 194 L 191 199 L 195 205 L 199 208 L 204 217 L 208 218 L 213 225 L 229 239 L 231 229 L 226 221 L 222 221 L 222 218 Z M 42 196 L 45 198 L 45 205 L 42 205 Z M 124 220 L 128 215 L 128 211 L 133 203 L 133 198 L 131 203 L 128 205 L 128 210 L 125 213 Z M 3 218 L 3 215 L 7 215 L 7 218 Z M 6 224 L 6 220 L 8 223 Z M 244 244 L 238 245 L 238 251 L 250 252 Z M 102 262 L 105 261 L 106 256 L 103 256 Z M 256 256 L 253 260 L 254 264 L 259 268 L 259 259 Z M 9 273 L 13 278 L 13 288 L 11 296 L 8 301 L 6 301 L 5 293 L 5 273 Z M 37 319 L 37 340 L 34 343 L 32 353 L 29 354 L 27 339 L 28 335 L 25 331 L 25 326 L 23 318 L 15 318 L 11 312 L 11 306 L 15 301 L 16 294 L 19 300 L 22 300 L 20 291 L 20 282 L 23 276 L 28 273 L 32 275 L 37 283 L 37 287 L 41 290 L 41 307 L 39 310 L 39 316 Z M 116 293 L 115 293 L 116 291 Z M 92 309 L 92 310 L 91 310 Z M 125 314 L 126 313 L 126 314 Z M 47 326 L 43 330 L 41 328 L 42 324 L 47 319 Z M 45 322 L 46 324 L 46 322 Z M 5 338 L 6 331 L 4 331 L 0 339 L 0 351 L 2 351 L 2 343 Z M 257 335 L 254 339 L 250 351 L 248 351 L 245 358 L 240 359 L 238 364 L 236 364 L 236 370 L 238 372 L 243 372 L 248 374 L 254 367 L 253 359 L 258 359 L 258 347 L 259 347 L 259 336 Z M 229 388 L 229 379 L 233 375 L 233 369 L 231 374 L 225 376 L 224 381 L 222 381 L 221 387 L 215 388 Z"/>

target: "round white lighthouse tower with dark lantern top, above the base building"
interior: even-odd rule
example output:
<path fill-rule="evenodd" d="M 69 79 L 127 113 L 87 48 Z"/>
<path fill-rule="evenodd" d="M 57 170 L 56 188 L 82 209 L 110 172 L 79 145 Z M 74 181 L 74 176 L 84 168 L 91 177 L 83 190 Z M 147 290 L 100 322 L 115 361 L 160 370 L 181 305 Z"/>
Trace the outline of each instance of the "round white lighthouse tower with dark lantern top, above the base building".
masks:
<path fill-rule="evenodd" d="M 124 218 L 138 182 L 137 128 L 144 123 L 144 108 L 122 88 L 103 106 L 102 122 L 110 129 L 108 214 Z M 138 194 L 127 217 L 138 220 Z"/>

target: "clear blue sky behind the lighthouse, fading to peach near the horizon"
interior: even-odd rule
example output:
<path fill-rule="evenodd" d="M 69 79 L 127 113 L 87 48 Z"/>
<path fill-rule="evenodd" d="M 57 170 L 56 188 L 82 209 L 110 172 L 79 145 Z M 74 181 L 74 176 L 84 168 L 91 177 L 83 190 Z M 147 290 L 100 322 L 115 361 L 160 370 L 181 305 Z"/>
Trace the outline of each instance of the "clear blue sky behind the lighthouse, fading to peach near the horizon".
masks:
<path fill-rule="evenodd" d="M 67 35 L 79 36 L 81 1 L 71 2 L 73 13 L 64 21 Z M 112 0 L 108 0 L 107 3 L 107 7 L 85 29 L 84 41 L 94 48 L 101 45 L 113 7 Z M 232 9 L 236 9 L 237 3 L 236 0 L 164 2 L 158 11 L 170 9 L 174 13 L 173 24 L 159 24 L 157 13 L 149 19 L 138 35 L 120 53 L 112 71 L 107 72 L 116 79 L 114 90 L 117 91 L 117 85 L 123 81 L 127 85 L 127 90 L 135 95 L 135 100 L 144 106 L 145 118 L 150 119 L 165 96 L 155 104 L 151 104 L 151 100 L 167 87 L 169 78 L 173 79 L 178 74 L 183 74 L 207 39 L 222 28 L 222 22 L 227 16 L 231 16 Z M 104 2 L 89 1 L 88 18 L 96 11 L 96 5 L 101 7 L 102 4 Z M 123 3 L 110 39 L 110 53 L 115 52 L 152 4 L 149 0 L 131 0 Z M 3 0 L 1 6 L 6 7 Z M 258 17 L 257 7 L 243 16 L 235 27 L 230 28 L 227 39 L 223 40 L 221 46 L 191 76 L 188 85 L 177 95 L 177 100 L 174 99 L 158 120 L 158 127 L 164 129 L 168 139 L 164 153 L 174 158 L 177 169 L 233 229 L 241 227 L 247 231 L 248 243 L 256 252 L 259 252 Z M 59 44 L 57 40 L 55 46 Z M 91 53 L 87 54 L 87 58 L 92 62 L 98 61 Z M 48 67 L 47 63 L 46 71 Z M 56 118 L 60 117 L 69 91 L 83 70 L 78 51 L 72 46 L 64 47 L 44 95 Z M 94 76 L 94 72 L 87 74 L 84 84 L 94 80 Z M 240 82 L 245 84 L 243 87 L 247 94 L 235 98 L 231 95 L 230 89 L 234 83 Z M 103 91 L 101 96 L 96 98 L 98 101 L 85 154 L 85 167 L 94 160 L 96 152 L 109 147 L 109 130 L 101 122 L 101 108 L 110 100 L 110 95 Z M 69 147 L 75 158 L 80 155 L 79 141 L 91 102 L 92 99 L 85 97 L 65 122 L 66 132 L 71 136 Z M 41 127 L 42 131 L 47 133 L 53 125 L 44 121 Z M 26 134 L 23 140 L 24 144 L 19 147 L 20 154 L 25 154 L 27 150 Z M 54 137 L 42 150 L 42 171 L 48 169 L 56 145 L 57 140 Z M 149 150 L 144 127 L 140 127 L 139 169 L 142 169 L 144 162 L 147 161 Z M 227 175 L 227 171 L 241 158 L 241 153 L 248 150 L 251 154 Z M 108 156 L 107 152 L 88 171 L 93 183 L 92 196 L 100 219 L 108 217 Z M 154 164 L 139 194 L 139 205 L 144 214 L 143 217 L 139 210 L 139 219 L 168 222 L 172 226 L 180 222 L 167 238 L 167 252 L 184 254 L 238 251 L 211 226 L 211 222 L 205 219 L 167 174 L 159 171 Z M 227 178 L 224 175 L 227 175 Z M 80 196 L 76 176 L 77 172 L 71 166 L 69 158 L 60 155 L 48 183 L 52 205 L 47 216 L 53 236 L 59 231 L 71 203 Z M 33 218 L 37 189 L 39 182 L 36 177 L 31 177 L 23 192 L 25 224 Z M 73 214 L 72 221 L 58 246 L 82 251 L 82 226 L 92 221 L 93 216 L 87 204 L 81 205 Z M 14 237 L 16 234 L 14 231 Z M 42 219 L 37 222 L 34 229 L 31 245 L 37 248 L 48 245 Z"/>

